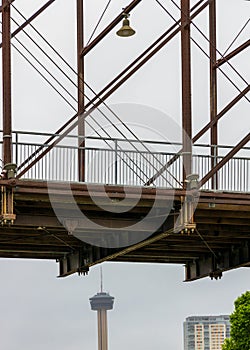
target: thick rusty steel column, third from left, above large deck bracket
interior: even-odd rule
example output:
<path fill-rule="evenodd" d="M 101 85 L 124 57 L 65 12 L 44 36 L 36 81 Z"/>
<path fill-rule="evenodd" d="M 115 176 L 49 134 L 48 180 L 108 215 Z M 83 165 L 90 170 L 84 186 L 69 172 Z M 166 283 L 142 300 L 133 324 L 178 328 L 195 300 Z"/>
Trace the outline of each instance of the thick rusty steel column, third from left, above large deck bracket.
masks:
<path fill-rule="evenodd" d="M 190 0 L 181 0 L 183 186 L 192 173 Z"/>

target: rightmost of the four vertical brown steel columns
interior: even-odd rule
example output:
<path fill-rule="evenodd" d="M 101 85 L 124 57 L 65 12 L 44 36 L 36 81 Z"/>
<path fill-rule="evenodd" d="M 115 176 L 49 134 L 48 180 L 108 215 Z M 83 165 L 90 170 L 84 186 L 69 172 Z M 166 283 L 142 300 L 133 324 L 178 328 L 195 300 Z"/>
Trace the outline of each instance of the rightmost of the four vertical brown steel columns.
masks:
<path fill-rule="evenodd" d="M 216 0 L 209 4 L 209 40 L 210 40 L 210 120 L 217 116 L 217 69 L 216 69 Z M 217 164 L 218 130 L 217 123 L 211 127 L 211 169 Z M 218 174 L 212 179 L 212 188 L 218 188 Z"/>

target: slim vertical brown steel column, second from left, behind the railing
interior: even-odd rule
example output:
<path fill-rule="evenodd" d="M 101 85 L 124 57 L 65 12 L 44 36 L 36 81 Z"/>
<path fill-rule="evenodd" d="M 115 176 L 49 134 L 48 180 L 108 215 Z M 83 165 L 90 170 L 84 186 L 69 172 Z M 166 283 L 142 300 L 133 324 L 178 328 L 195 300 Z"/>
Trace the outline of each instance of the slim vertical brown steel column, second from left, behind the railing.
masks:
<path fill-rule="evenodd" d="M 83 24 L 83 0 L 77 1 L 77 72 L 78 72 L 78 114 L 79 117 L 84 111 L 84 57 L 81 52 L 84 45 L 84 24 Z M 78 124 L 78 178 L 85 180 L 85 123 L 84 120 Z M 81 137 L 83 136 L 83 137 Z"/>

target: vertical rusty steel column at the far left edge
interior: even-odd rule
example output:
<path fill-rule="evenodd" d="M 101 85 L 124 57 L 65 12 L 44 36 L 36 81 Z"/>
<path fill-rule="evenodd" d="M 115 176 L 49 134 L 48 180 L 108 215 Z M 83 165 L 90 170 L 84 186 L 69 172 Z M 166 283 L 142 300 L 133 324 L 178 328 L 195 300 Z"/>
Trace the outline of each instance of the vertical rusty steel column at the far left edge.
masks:
<path fill-rule="evenodd" d="M 3 163 L 12 163 L 11 141 L 11 32 L 10 4 L 2 1 L 2 69 L 3 69 Z"/>

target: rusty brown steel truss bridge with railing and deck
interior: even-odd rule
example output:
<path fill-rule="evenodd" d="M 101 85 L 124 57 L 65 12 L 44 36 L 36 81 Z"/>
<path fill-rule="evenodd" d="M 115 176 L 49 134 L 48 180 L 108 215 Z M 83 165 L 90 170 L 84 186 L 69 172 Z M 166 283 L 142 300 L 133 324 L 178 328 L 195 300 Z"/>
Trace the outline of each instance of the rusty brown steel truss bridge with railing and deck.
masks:
<path fill-rule="evenodd" d="M 13 131 L 13 40 L 54 2 L 44 2 L 29 18 L 22 16 L 13 29 L 18 0 L 2 1 L 0 257 L 57 260 L 60 277 L 85 274 L 104 261 L 183 264 L 186 281 L 217 279 L 223 271 L 249 267 L 250 133 L 246 128 L 234 145 L 220 144 L 218 134 L 220 119 L 234 106 L 244 101 L 249 114 L 249 84 L 231 62 L 246 51 L 250 40 L 222 55 L 217 49 L 217 1 L 196 1 L 191 8 L 189 0 L 171 0 L 179 8 L 174 24 L 88 99 L 85 57 L 124 14 L 145 3 L 133 0 L 84 45 L 84 2 L 76 0 L 77 111 L 55 133 Z M 167 11 L 164 2 L 156 2 Z M 205 11 L 210 119 L 193 135 L 191 30 Z M 133 130 L 131 137 L 88 135 L 91 114 L 176 37 L 181 46 L 181 142 L 141 140 Z M 218 111 L 218 71 L 226 65 L 241 76 L 244 86 L 231 81 L 235 96 Z M 206 133 L 209 144 L 199 143 Z"/>

